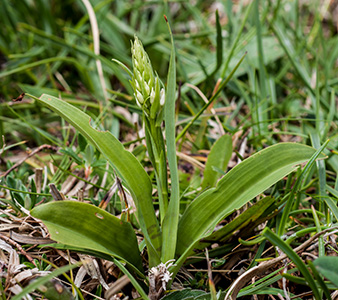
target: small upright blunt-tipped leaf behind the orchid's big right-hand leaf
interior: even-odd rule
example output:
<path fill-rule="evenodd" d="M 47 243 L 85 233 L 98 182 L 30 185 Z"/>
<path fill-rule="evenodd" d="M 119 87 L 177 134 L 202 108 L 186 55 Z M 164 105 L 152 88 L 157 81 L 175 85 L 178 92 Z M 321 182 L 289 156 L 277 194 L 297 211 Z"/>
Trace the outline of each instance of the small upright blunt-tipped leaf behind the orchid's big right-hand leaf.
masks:
<path fill-rule="evenodd" d="M 221 136 L 210 150 L 207 162 L 205 164 L 204 178 L 202 182 L 202 189 L 214 187 L 217 179 L 221 177 L 221 174 L 214 168 L 226 170 L 228 162 L 232 154 L 232 139 L 230 135 Z"/>

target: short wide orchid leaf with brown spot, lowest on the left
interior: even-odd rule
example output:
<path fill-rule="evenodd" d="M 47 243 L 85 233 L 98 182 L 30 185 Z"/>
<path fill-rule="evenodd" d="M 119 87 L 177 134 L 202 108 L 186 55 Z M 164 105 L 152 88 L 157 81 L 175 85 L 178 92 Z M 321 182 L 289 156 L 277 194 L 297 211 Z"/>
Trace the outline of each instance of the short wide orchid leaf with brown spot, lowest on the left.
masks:
<path fill-rule="evenodd" d="M 51 238 L 58 242 L 113 255 L 142 270 L 132 226 L 101 208 L 77 201 L 56 201 L 35 207 L 31 215 L 42 220 Z"/>

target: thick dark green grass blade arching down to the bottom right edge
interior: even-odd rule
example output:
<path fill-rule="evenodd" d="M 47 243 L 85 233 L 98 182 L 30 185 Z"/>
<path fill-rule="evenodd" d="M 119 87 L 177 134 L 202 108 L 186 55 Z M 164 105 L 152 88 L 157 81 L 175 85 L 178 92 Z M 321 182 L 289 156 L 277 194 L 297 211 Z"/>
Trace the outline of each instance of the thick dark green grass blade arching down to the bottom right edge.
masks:
<path fill-rule="evenodd" d="M 286 244 L 279 236 L 277 236 L 275 233 L 271 231 L 270 228 L 265 227 L 262 234 L 276 247 L 281 249 L 297 266 L 298 270 L 302 273 L 305 280 L 308 282 L 309 287 L 311 288 L 314 297 L 317 300 L 321 300 L 320 292 L 317 288 L 317 285 L 310 274 L 308 268 L 306 267 L 305 263 L 301 260 L 301 258 L 297 255 L 296 252 L 293 251 L 293 249 Z"/>

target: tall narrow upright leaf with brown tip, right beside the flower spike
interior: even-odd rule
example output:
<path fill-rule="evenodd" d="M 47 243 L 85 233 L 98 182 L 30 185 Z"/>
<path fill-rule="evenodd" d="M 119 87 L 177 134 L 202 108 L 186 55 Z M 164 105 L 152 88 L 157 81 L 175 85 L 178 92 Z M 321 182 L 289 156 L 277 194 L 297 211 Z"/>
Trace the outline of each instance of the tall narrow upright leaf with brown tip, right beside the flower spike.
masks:
<path fill-rule="evenodd" d="M 167 21 L 167 19 L 166 19 Z M 169 206 L 163 220 L 162 262 L 175 257 L 177 226 L 180 208 L 180 189 L 177 170 L 176 141 L 175 141 L 175 97 L 176 97 L 176 63 L 174 38 L 167 21 L 171 36 L 171 57 L 168 72 L 167 92 L 165 99 L 165 134 L 167 143 L 167 157 L 170 169 L 171 195 Z"/>

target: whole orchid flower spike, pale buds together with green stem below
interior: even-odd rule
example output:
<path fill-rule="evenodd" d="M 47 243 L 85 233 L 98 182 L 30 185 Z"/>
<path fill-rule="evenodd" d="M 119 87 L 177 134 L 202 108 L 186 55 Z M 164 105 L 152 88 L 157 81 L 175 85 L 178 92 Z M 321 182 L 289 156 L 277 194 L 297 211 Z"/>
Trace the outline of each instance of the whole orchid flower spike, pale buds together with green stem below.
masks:
<path fill-rule="evenodd" d="M 149 56 L 137 36 L 131 43 L 131 53 L 133 74 L 130 83 L 134 89 L 136 103 L 143 111 L 146 144 L 149 159 L 155 170 L 162 223 L 168 207 L 167 160 L 162 133 L 165 90 L 161 88 L 161 81 L 154 73 Z"/>

